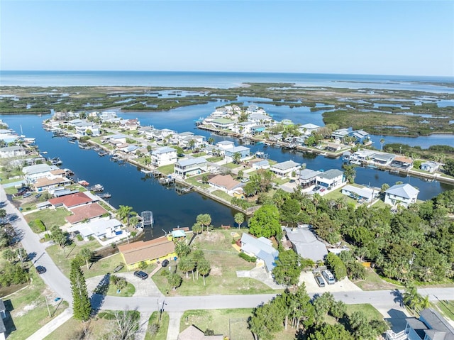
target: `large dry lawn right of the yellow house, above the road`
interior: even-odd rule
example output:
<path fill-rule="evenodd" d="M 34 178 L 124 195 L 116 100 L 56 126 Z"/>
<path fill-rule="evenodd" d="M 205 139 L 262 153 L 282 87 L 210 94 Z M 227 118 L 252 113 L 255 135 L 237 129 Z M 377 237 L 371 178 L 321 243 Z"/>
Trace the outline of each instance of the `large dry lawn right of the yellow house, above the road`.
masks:
<path fill-rule="evenodd" d="M 163 294 L 169 292 L 169 296 L 187 295 L 235 295 L 235 294 L 265 294 L 276 292 L 264 283 L 251 278 L 237 278 L 237 270 L 250 270 L 255 263 L 249 263 L 238 256 L 238 252 L 231 246 L 231 231 L 211 231 L 209 234 L 196 236 L 192 243 L 196 248 L 205 253 L 205 258 L 211 265 L 211 271 L 206 276 L 204 285 L 203 278 L 193 281 L 192 275 L 186 275 L 180 270 L 177 273 L 183 278 L 182 285 L 175 291 L 168 290 L 167 278 L 160 270 L 153 276 L 157 287 Z M 172 267 L 174 264 L 172 263 Z M 167 268 L 166 268 L 167 269 Z"/>

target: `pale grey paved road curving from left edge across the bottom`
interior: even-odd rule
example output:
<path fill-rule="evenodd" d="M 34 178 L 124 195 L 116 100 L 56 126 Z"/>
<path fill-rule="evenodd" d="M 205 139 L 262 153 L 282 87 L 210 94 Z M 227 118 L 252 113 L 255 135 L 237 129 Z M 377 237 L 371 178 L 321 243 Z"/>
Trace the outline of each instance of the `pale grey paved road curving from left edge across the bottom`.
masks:
<path fill-rule="evenodd" d="M 72 304 L 70 280 L 63 275 L 57 265 L 52 261 L 45 246 L 40 243 L 38 235 L 31 231 L 25 219 L 18 209 L 6 199 L 4 189 L 0 189 L 0 202 L 4 202 L 4 209 L 12 219 L 18 234 L 21 235 L 21 242 L 28 253 L 35 253 L 34 265 L 44 265 L 47 272 L 41 275 L 46 285 L 57 292 L 60 297 Z M 429 296 L 429 300 L 454 300 L 453 288 L 423 288 L 421 295 Z M 402 292 L 394 290 L 377 290 L 368 292 L 335 292 L 334 297 L 346 304 L 370 303 L 377 307 L 382 314 L 392 316 L 392 311 L 402 312 Z M 314 294 L 313 294 L 314 295 Z M 166 312 L 179 313 L 188 309 L 226 309 L 226 308 L 250 308 L 270 300 L 274 294 L 267 295 L 210 295 L 192 297 L 115 297 L 115 296 L 94 296 L 95 307 L 100 309 L 137 309 L 139 312 L 153 312 L 164 306 Z M 391 312 L 390 312 L 391 311 Z M 404 317 L 404 316 L 402 316 Z"/>

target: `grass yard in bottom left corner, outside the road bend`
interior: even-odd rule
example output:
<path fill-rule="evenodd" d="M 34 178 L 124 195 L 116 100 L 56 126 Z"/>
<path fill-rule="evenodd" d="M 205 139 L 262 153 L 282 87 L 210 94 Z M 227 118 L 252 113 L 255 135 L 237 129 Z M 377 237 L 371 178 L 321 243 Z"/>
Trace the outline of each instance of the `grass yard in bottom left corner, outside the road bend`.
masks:
<path fill-rule="evenodd" d="M 7 336 L 9 340 L 27 339 L 68 307 L 66 301 L 55 302 L 55 292 L 46 287 L 34 271 L 31 271 L 31 279 L 31 285 L 3 299 L 7 314 L 12 317 L 12 320 L 9 317 L 4 320 L 6 329 L 15 329 Z M 46 298 L 52 318 L 49 317 Z"/>

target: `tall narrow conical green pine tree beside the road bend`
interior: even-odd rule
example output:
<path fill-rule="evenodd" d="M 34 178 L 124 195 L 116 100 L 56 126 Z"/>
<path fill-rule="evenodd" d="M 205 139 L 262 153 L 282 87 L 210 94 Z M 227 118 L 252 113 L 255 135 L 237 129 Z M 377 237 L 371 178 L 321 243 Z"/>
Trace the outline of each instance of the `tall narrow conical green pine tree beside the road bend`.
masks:
<path fill-rule="evenodd" d="M 72 305 L 74 309 L 74 319 L 87 321 L 92 313 L 92 306 L 88 298 L 87 284 L 85 283 L 84 273 L 80 269 L 80 260 L 74 258 L 71 261 L 71 290 Z"/>

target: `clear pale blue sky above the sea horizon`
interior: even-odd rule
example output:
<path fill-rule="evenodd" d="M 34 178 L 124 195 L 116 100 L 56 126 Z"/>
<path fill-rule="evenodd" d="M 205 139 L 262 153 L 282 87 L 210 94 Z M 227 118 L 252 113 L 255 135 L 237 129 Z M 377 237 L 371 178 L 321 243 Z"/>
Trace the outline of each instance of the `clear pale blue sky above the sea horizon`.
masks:
<path fill-rule="evenodd" d="M 0 4 L 1 70 L 454 76 L 454 1 Z"/>

